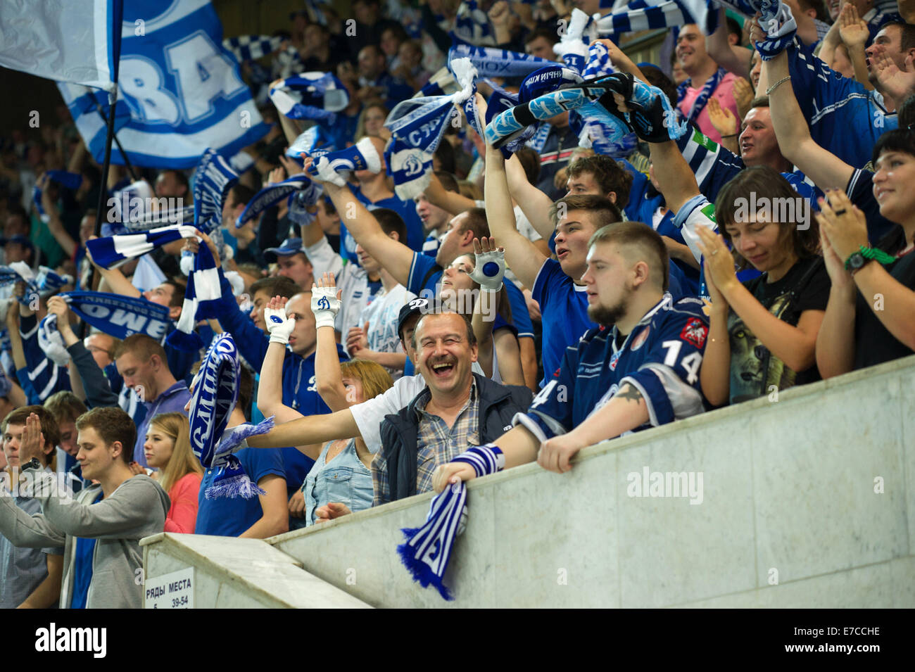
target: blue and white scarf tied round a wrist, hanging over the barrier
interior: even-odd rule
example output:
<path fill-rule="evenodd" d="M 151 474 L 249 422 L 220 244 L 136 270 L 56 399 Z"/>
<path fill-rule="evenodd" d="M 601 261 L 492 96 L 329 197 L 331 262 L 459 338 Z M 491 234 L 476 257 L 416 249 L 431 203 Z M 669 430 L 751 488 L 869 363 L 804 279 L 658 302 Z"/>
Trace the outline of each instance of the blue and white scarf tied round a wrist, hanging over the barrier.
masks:
<path fill-rule="evenodd" d="M 470 464 L 476 475 L 495 474 L 505 466 L 505 456 L 493 443 L 472 446 L 452 462 Z M 430 584 L 446 600 L 453 600 L 445 578 L 455 538 L 467 526 L 467 484 L 448 485 L 436 495 L 422 528 L 404 528 L 406 542 L 397 547 L 401 561 L 423 588 Z"/>

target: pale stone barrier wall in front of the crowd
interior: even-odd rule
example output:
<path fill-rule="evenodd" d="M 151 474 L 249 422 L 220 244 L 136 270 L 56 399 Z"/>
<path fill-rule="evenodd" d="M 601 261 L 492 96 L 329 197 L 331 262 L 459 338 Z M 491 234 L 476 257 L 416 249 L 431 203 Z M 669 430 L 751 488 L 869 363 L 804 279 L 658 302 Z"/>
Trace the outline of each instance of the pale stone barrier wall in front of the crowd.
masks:
<path fill-rule="evenodd" d="M 377 607 L 913 607 L 913 411 L 909 357 L 600 443 L 569 474 L 527 464 L 476 480 L 452 603 L 395 550 L 431 494 L 267 539 L 277 555 L 258 561 L 285 569 L 233 590 L 300 605 L 311 589 L 293 580 L 298 562 Z M 254 548 L 203 539 L 211 573 Z M 147 571 L 202 562 L 152 549 Z"/>

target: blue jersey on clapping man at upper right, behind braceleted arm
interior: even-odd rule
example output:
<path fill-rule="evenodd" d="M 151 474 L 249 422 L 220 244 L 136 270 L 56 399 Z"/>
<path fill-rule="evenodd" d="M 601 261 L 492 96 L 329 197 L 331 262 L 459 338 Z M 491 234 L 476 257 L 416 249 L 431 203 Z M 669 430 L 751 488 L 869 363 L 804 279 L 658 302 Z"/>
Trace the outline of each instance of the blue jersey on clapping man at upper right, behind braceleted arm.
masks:
<path fill-rule="evenodd" d="M 813 56 L 813 48 L 795 40 L 786 53 L 794 96 L 813 142 L 848 165 L 867 165 L 877 138 L 899 127 L 896 112 L 887 112 L 879 92 L 867 91 Z"/>

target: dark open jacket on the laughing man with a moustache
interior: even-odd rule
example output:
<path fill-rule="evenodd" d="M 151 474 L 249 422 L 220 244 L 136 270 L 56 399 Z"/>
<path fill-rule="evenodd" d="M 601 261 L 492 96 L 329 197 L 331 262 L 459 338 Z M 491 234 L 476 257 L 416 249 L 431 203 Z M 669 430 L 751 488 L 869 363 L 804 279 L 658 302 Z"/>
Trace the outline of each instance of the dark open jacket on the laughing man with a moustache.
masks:
<path fill-rule="evenodd" d="M 500 385 L 479 374 L 477 400 L 479 403 L 479 443 L 491 443 L 511 429 L 515 413 L 527 411 L 533 400 L 531 390 L 517 385 Z M 391 501 L 416 494 L 416 460 L 419 454 L 416 417 L 416 395 L 404 409 L 387 415 L 382 421 L 382 456 L 388 467 Z"/>

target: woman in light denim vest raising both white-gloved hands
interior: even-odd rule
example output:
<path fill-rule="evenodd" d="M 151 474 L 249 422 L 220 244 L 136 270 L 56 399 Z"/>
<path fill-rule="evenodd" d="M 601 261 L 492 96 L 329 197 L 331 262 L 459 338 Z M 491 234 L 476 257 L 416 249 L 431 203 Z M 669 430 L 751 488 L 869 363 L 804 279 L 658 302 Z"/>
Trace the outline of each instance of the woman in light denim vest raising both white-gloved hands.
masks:
<path fill-rule="evenodd" d="M 323 279 L 318 280 L 316 289 L 333 287 L 333 276 L 326 273 Z M 315 299 L 319 298 L 318 294 L 318 291 L 313 293 L 313 310 Z M 267 309 L 281 312 L 281 315 L 276 316 L 283 320 L 285 303 L 285 298 L 276 296 L 270 300 Z M 264 315 L 265 319 L 270 319 L 270 313 L 265 311 Z M 316 331 L 315 380 L 318 393 L 330 411 L 340 411 L 372 399 L 393 385 L 391 375 L 379 364 L 364 359 L 339 361 L 332 320 L 319 321 Z M 303 416 L 282 402 L 285 344 L 281 339 L 273 339 L 275 332 L 276 328 L 271 330 L 271 344 L 267 348 L 264 365 L 261 368 L 257 404 L 265 416 L 274 415 L 278 424 Z M 330 355 L 325 356 L 325 353 Z M 344 504 L 351 511 L 371 507 L 370 465 L 374 455 L 361 439 L 341 439 L 330 441 L 323 446 L 316 443 L 296 447 L 315 460 L 315 464 L 308 472 L 301 490 L 289 501 L 290 516 L 305 517 L 306 526 L 310 526 L 322 520 L 316 518 L 315 510 L 328 505 L 329 502 Z"/>

